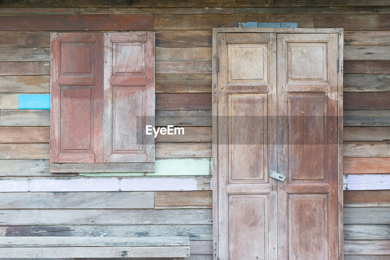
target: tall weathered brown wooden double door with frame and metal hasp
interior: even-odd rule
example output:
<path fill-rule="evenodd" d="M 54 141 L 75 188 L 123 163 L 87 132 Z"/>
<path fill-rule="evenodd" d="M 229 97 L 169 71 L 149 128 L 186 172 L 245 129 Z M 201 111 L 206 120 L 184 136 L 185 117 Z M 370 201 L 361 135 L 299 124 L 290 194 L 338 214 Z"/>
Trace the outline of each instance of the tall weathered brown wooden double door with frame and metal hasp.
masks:
<path fill-rule="evenodd" d="M 342 31 L 295 32 L 214 32 L 215 259 L 342 258 Z"/>

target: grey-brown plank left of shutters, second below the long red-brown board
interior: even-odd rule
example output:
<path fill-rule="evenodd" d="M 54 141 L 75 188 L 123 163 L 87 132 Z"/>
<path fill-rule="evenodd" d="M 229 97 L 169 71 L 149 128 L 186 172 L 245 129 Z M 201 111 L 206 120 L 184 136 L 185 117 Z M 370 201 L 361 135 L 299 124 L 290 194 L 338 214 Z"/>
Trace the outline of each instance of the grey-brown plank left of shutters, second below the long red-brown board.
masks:
<path fill-rule="evenodd" d="M 50 61 L 50 48 L 0 47 L 0 62 Z"/>

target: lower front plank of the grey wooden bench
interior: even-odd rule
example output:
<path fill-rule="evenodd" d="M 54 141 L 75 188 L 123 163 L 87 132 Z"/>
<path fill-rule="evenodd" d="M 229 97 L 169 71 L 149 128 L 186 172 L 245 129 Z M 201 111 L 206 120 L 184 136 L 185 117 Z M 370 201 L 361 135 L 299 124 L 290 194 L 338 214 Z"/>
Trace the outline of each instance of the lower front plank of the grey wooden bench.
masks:
<path fill-rule="evenodd" d="M 131 245 L 131 243 L 129 243 Z M 124 253 L 125 252 L 125 253 Z M 126 256 L 142 257 L 184 257 L 190 256 L 189 246 L 109 246 L 109 247 L 18 247 L 3 248 L 0 252 L 2 258 L 38 258 L 42 255 L 67 258 L 113 258 Z"/>

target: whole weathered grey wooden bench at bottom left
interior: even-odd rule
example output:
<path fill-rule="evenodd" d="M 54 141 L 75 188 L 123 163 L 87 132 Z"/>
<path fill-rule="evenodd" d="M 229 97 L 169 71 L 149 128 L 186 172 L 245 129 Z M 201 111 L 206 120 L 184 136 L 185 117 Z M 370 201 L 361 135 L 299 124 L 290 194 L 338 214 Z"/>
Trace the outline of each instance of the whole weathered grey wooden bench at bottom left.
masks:
<path fill-rule="evenodd" d="M 0 237 L 0 258 L 184 260 L 188 256 L 188 237 Z"/>

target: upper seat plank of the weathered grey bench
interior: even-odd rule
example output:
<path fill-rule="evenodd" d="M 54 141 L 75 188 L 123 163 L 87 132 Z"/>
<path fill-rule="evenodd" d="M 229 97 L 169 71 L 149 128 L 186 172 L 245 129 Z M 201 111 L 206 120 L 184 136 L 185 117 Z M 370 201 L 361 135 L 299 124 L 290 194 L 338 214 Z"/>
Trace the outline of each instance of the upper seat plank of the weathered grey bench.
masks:
<path fill-rule="evenodd" d="M 0 237 L 4 247 L 190 246 L 188 237 Z"/>

